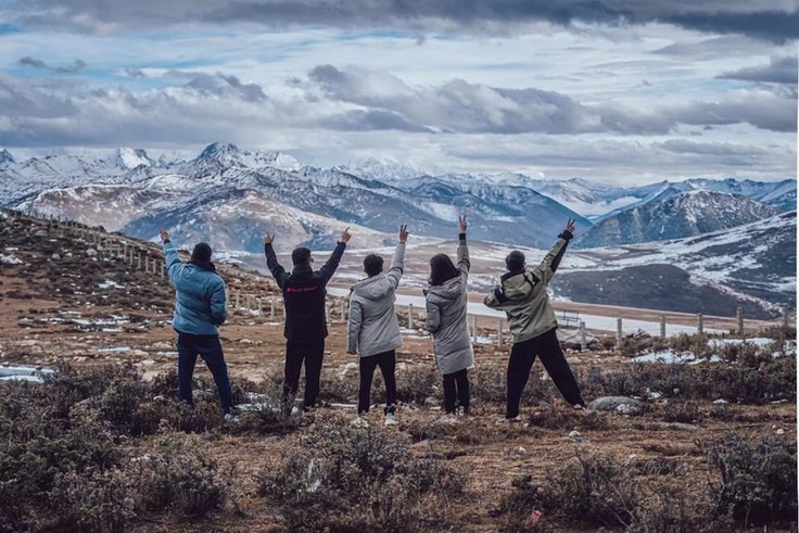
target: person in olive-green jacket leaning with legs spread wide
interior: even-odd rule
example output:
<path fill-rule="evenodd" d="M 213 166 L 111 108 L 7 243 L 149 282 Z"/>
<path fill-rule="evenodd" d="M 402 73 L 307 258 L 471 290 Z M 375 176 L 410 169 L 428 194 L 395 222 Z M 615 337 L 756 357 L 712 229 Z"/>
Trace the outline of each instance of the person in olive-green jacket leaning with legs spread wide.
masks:
<path fill-rule="evenodd" d="M 485 296 L 485 305 L 505 312 L 513 335 L 513 347 L 508 359 L 505 420 L 519 420 L 521 394 L 536 356 L 541 356 L 541 363 L 563 398 L 574 408 L 585 407 L 580 386 L 556 335 L 558 320 L 547 294 L 549 280 L 560 265 L 573 236 L 574 220 L 569 219 L 549 253 L 533 269 L 528 269 L 522 252 L 510 252 L 505 258 L 508 271 L 503 275 L 499 284 Z"/>

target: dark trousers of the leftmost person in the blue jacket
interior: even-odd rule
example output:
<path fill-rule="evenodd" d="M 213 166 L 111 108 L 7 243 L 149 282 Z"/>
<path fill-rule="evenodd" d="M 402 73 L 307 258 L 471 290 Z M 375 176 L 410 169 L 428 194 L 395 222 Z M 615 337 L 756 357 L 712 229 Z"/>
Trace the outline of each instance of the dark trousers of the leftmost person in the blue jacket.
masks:
<path fill-rule="evenodd" d="M 178 397 L 189 405 L 194 404 L 191 379 L 194 375 L 198 355 L 203 358 L 214 377 L 223 411 L 230 413 L 233 406 L 233 393 L 230 390 L 228 367 L 225 364 L 225 355 L 218 335 L 191 335 L 178 332 Z"/>

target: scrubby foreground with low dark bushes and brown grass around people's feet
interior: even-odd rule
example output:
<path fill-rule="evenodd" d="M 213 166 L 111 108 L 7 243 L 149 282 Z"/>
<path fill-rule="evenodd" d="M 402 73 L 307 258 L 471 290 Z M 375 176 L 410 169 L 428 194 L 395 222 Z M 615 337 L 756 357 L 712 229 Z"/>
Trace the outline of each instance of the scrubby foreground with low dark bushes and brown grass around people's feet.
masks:
<path fill-rule="evenodd" d="M 393 428 L 379 409 L 367 428 L 345 409 L 287 417 L 275 373 L 233 379 L 243 408 L 225 422 L 204 375 L 190 408 L 174 370 L 144 381 L 132 365 L 62 365 L 41 384 L 0 382 L 0 532 L 117 532 L 153 517 L 217 531 L 240 520 L 275 531 L 791 531 L 796 442 L 776 428 L 796 415 L 795 330 L 769 334 L 759 345 L 669 341 L 694 350 L 695 365 L 580 367 L 586 398 L 646 402 L 634 418 L 565 408 L 534 372 L 512 427 L 493 419 L 503 361 L 472 372 L 474 414 L 457 424 L 437 421 L 437 371 L 403 366 Z M 357 369 L 326 369 L 322 391 L 354 403 Z M 636 453 L 614 447 L 624 434 Z"/>

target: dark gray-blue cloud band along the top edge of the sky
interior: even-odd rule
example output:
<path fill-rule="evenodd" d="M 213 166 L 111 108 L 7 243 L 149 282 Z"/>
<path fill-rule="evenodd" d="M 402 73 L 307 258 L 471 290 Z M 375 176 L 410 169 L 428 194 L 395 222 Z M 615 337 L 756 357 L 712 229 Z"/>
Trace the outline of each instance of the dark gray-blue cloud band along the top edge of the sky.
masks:
<path fill-rule="evenodd" d="M 90 33 L 181 24 L 256 23 L 272 28 L 317 26 L 402 29 L 422 34 L 513 33 L 534 24 L 611 26 L 663 22 L 716 34 L 786 41 L 799 37 L 799 9 L 787 0 L 47 0 L 14 2 L 5 17 L 22 25 L 72 27 Z M 2 13 L 2 11 L 0 11 Z M 4 18 L 5 18 L 4 17 Z"/>

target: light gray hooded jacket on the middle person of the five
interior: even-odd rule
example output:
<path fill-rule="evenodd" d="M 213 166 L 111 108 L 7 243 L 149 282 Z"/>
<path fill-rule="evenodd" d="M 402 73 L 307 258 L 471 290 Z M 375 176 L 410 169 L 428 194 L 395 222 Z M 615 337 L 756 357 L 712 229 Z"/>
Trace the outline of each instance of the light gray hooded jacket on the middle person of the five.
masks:
<path fill-rule="evenodd" d="M 362 357 L 382 354 L 403 345 L 394 312 L 394 292 L 403 276 L 405 244 L 400 243 L 388 274 L 358 281 L 350 293 L 350 322 L 346 351 L 357 347 Z"/>

